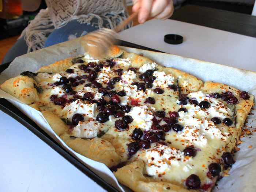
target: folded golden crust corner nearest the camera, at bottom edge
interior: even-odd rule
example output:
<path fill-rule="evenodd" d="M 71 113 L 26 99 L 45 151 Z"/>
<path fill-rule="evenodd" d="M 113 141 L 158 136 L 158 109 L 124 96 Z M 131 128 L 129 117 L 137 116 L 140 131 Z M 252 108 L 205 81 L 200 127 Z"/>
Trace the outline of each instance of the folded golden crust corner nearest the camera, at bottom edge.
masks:
<path fill-rule="evenodd" d="M 195 192 L 195 190 L 185 189 L 184 186 L 171 184 L 170 182 L 157 182 L 153 178 L 143 175 L 144 162 L 134 161 L 114 172 L 117 180 L 131 188 L 135 192 Z"/>

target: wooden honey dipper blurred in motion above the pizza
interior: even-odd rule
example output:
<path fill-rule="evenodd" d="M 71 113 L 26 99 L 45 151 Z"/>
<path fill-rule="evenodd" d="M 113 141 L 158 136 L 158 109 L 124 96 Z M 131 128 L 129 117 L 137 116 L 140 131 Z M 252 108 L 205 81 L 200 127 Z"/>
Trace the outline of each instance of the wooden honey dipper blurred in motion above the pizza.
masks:
<path fill-rule="evenodd" d="M 127 19 L 116 26 L 113 30 L 102 28 L 84 35 L 80 44 L 86 52 L 95 58 L 101 57 L 105 54 L 111 45 L 116 42 L 116 33 L 121 31 L 126 25 L 138 15 L 139 12 L 132 13 Z"/>

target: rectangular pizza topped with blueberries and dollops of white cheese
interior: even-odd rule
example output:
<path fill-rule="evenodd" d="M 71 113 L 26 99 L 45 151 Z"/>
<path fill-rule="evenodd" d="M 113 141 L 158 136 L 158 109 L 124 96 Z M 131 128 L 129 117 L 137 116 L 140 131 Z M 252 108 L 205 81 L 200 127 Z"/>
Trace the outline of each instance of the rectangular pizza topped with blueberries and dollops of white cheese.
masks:
<path fill-rule="evenodd" d="M 1 89 L 135 192 L 211 191 L 233 165 L 253 95 L 113 46 L 25 71 Z"/>

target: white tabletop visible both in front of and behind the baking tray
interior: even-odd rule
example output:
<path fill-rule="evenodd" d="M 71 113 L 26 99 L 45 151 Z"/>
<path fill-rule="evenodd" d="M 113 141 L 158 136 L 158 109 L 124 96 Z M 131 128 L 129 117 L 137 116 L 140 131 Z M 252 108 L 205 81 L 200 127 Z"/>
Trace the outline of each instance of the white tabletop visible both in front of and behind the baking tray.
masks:
<path fill-rule="evenodd" d="M 163 35 L 181 34 L 181 45 Z M 151 20 L 120 33 L 120 38 L 163 52 L 256 71 L 256 38 L 173 20 Z M 241 65 L 243 63 L 244 65 Z M 26 127 L 0 112 L 0 191 L 104 191 Z"/>

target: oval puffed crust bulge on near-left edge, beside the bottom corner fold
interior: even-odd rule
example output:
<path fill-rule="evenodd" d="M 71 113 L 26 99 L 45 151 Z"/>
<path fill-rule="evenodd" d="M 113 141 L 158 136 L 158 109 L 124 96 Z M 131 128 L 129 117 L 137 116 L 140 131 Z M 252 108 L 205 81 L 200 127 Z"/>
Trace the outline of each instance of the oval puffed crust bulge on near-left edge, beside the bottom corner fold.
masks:
<path fill-rule="evenodd" d="M 94 161 L 104 163 L 112 167 L 120 163 L 114 147 L 110 142 L 101 138 L 68 140 L 67 145 L 77 153 L 84 155 Z"/>

